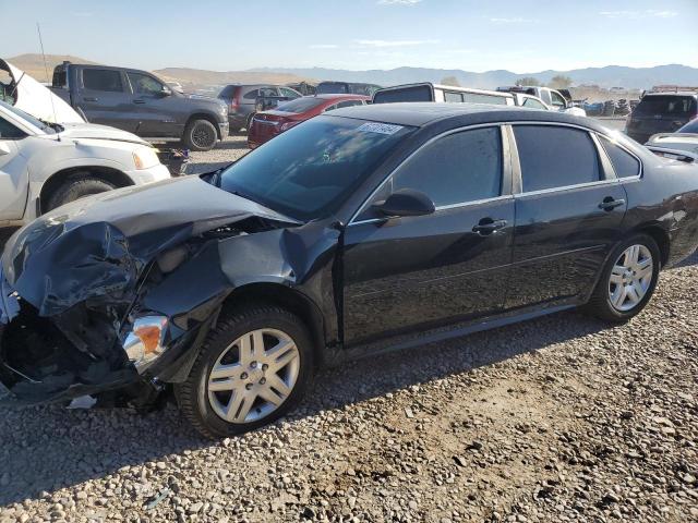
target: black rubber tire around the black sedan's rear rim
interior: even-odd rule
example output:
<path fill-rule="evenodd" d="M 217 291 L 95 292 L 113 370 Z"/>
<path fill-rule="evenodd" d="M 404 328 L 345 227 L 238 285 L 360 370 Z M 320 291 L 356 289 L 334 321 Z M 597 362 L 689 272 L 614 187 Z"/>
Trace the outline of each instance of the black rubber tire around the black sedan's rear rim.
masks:
<path fill-rule="evenodd" d="M 629 308 L 627 311 L 622 311 L 616 308 L 611 302 L 611 295 L 610 295 L 611 284 L 612 284 L 611 273 L 613 271 L 613 267 L 615 266 L 616 262 L 618 262 L 618 258 L 621 257 L 621 255 L 628 247 L 633 245 L 642 245 L 651 254 L 652 279 L 649 282 L 649 285 L 645 292 L 645 295 L 641 297 L 641 300 L 639 300 L 637 304 L 633 306 L 633 308 Z M 662 259 L 661 252 L 659 250 L 659 246 L 657 245 L 657 242 L 654 241 L 654 239 L 652 239 L 652 236 L 648 234 L 641 234 L 641 233 L 635 234 L 631 238 L 618 243 L 614 247 L 611 255 L 609 256 L 606 265 L 604 266 L 603 271 L 601 273 L 601 278 L 599 279 L 599 282 L 597 283 L 597 288 L 594 289 L 591 295 L 591 300 L 589 300 L 589 303 L 585 307 L 586 311 L 589 314 L 597 316 L 600 319 L 612 321 L 612 323 L 627 321 L 633 316 L 640 313 L 640 311 L 645 308 L 645 306 L 648 304 L 648 302 L 652 297 L 654 288 L 657 287 L 657 281 L 659 279 L 659 271 L 661 268 L 660 267 L 661 259 Z"/>

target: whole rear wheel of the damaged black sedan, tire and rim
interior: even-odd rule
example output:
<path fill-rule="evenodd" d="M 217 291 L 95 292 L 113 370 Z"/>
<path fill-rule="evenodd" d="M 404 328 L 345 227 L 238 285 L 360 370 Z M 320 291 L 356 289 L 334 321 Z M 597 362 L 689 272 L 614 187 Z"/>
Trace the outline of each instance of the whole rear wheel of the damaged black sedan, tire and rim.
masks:
<path fill-rule="evenodd" d="M 627 321 L 650 301 L 661 265 L 657 242 L 636 234 L 618 244 L 603 268 L 587 311 L 609 321 Z"/>

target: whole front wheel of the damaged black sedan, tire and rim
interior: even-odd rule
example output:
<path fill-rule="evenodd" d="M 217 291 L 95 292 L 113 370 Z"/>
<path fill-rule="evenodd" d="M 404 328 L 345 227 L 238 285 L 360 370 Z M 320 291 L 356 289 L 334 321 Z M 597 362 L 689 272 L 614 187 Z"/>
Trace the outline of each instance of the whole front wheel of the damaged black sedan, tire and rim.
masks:
<path fill-rule="evenodd" d="M 204 436 L 226 437 L 267 425 L 300 401 L 313 370 L 303 323 L 275 307 L 250 307 L 219 319 L 174 393 Z"/>

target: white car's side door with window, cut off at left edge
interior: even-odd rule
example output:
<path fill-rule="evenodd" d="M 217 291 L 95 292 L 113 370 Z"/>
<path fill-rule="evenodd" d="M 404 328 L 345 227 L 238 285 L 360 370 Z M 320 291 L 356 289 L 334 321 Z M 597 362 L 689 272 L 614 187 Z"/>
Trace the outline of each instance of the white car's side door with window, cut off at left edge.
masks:
<path fill-rule="evenodd" d="M 26 159 L 19 147 L 23 139 L 28 139 L 26 133 L 0 114 L 0 221 L 22 219 L 26 207 Z"/>

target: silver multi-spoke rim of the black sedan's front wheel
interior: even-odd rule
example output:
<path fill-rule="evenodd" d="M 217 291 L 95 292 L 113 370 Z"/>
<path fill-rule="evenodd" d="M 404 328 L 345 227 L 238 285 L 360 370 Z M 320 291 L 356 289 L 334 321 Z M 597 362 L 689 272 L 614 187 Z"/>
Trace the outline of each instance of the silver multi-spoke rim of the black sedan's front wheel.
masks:
<path fill-rule="evenodd" d="M 208 402 L 229 423 L 268 416 L 288 399 L 300 368 L 298 346 L 286 332 L 258 329 L 233 341 L 208 375 Z"/>

